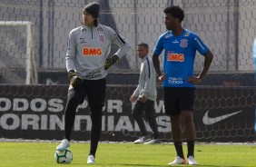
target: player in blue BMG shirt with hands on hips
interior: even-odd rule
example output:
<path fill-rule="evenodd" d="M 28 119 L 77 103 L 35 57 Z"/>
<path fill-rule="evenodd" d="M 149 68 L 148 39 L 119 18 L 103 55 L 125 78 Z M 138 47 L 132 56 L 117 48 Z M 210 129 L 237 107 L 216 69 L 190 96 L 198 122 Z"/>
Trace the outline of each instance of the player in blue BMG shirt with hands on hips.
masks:
<path fill-rule="evenodd" d="M 187 139 L 187 162 L 198 164 L 194 160 L 195 130 L 193 123 L 193 103 L 196 83 L 208 72 L 212 63 L 212 52 L 192 31 L 182 27 L 184 12 L 180 6 L 172 5 L 164 9 L 167 32 L 162 34 L 153 50 L 153 65 L 162 81 L 164 109 L 171 116 L 172 139 L 177 157 L 168 164 L 186 163 L 182 151 L 182 125 Z M 160 70 L 159 55 L 164 50 L 163 73 Z M 204 56 L 202 72 L 193 76 L 195 53 Z"/>

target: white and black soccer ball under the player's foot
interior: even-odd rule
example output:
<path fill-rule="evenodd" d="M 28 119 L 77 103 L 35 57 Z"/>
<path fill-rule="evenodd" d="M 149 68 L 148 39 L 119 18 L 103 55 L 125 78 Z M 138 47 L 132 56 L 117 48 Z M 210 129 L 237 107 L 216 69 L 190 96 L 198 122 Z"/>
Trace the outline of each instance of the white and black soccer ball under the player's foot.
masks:
<path fill-rule="evenodd" d="M 70 163 L 73 160 L 73 153 L 65 149 L 64 151 L 56 151 L 54 153 L 54 159 L 57 163 Z"/>

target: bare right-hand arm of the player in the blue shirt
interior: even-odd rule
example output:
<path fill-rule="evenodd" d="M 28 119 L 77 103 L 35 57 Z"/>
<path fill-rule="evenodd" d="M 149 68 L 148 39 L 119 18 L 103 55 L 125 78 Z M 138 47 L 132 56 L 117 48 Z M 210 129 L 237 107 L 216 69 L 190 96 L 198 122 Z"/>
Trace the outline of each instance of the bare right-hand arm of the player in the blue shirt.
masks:
<path fill-rule="evenodd" d="M 204 76 L 207 74 L 207 72 L 212 64 L 213 54 L 209 50 L 203 55 L 204 55 L 204 63 L 203 63 L 202 71 L 196 77 L 189 77 L 187 80 L 189 83 L 194 83 L 194 84 L 202 83 L 202 78 L 204 78 Z"/>

